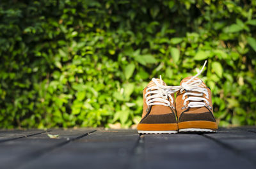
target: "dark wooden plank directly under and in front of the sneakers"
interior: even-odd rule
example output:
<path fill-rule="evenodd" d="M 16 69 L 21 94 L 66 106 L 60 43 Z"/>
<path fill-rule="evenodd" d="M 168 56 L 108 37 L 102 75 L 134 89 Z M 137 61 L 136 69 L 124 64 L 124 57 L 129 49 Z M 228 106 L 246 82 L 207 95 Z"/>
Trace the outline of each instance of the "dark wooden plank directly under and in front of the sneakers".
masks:
<path fill-rule="evenodd" d="M 144 156 L 143 168 L 255 168 L 247 159 L 196 134 L 146 135 Z"/>

